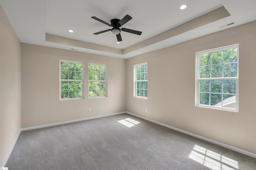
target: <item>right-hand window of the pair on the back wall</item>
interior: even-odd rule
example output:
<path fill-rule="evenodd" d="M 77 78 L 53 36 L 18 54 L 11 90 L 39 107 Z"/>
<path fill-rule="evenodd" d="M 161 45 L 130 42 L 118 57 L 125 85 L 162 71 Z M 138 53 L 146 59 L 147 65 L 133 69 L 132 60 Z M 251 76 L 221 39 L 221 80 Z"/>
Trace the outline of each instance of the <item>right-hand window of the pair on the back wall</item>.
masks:
<path fill-rule="evenodd" d="M 89 98 L 107 97 L 107 65 L 89 64 Z"/>

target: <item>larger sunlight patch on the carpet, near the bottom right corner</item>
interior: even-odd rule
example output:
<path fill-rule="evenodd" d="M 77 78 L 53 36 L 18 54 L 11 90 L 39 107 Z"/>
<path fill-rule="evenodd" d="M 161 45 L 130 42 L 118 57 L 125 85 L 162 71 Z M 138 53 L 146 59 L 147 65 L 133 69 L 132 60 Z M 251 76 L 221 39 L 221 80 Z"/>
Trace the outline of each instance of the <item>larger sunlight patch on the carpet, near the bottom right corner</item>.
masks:
<path fill-rule="evenodd" d="M 198 145 L 194 146 L 188 157 L 212 170 L 239 170 L 236 160 Z"/>

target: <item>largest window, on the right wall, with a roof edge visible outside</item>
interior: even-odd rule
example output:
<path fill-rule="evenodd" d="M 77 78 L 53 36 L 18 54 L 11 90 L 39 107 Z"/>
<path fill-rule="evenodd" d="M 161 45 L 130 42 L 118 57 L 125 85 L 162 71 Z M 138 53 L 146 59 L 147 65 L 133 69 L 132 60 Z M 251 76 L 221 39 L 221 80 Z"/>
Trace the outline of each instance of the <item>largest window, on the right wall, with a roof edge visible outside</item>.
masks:
<path fill-rule="evenodd" d="M 238 45 L 196 55 L 196 106 L 238 111 Z"/>

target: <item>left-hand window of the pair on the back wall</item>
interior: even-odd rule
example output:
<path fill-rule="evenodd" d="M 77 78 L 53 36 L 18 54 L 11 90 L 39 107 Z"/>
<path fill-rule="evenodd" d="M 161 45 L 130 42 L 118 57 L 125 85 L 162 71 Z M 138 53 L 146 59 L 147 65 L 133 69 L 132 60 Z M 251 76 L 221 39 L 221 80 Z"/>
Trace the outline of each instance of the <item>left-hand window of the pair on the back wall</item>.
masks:
<path fill-rule="evenodd" d="M 84 63 L 60 61 L 60 99 L 84 98 Z"/>

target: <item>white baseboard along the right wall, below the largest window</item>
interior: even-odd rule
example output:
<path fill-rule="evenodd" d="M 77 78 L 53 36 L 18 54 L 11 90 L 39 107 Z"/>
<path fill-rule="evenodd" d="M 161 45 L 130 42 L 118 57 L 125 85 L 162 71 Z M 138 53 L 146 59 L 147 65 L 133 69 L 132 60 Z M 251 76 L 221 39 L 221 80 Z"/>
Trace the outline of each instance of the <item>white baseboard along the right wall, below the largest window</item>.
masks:
<path fill-rule="evenodd" d="M 234 151 L 236 151 L 236 152 L 239 152 L 239 153 L 245 154 L 245 155 L 247 155 L 247 156 L 251 156 L 251 157 L 253 157 L 253 158 L 256 158 L 256 154 L 253 154 L 253 153 L 251 153 L 251 152 L 247 152 L 247 151 L 245 151 L 245 150 L 238 149 L 238 148 L 232 147 L 232 146 L 230 146 L 230 145 L 226 145 L 226 144 L 224 144 L 224 143 L 220 143 L 220 142 L 218 142 L 218 141 L 214 141 L 214 140 L 212 140 L 212 139 L 208 139 L 208 138 L 206 138 L 206 137 L 202 137 L 202 136 L 196 135 L 196 134 L 194 134 L 194 133 L 190 133 L 190 132 L 187 132 L 187 131 L 183 131 L 183 130 L 178 129 L 178 128 L 176 128 L 176 127 L 172 127 L 172 126 L 166 125 L 166 124 L 164 124 L 164 123 L 160 123 L 160 122 L 157 122 L 157 121 L 153 121 L 153 120 L 151 120 L 151 119 L 148 119 L 148 118 L 146 118 L 146 117 L 142 117 L 142 116 L 140 116 L 140 115 L 136 115 L 136 114 L 134 114 L 134 113 L 130 113 L 130 112 L 127 112 L 127 111 L 126 111 L 126 113 L 128 113 L 128 114 L 130 114 L 130 115 L 134 115 L 134 116 L 136 116 L 136 117 L 140 117 L 140 118 L 145 119 L 145 120 L 147 120 L 147 121 L 151 121 L 151 122 L 156 123 L 156 124 L 158 124 L 158 125 L 162 125 L 162 126 L 165 126 L 165 127 L 170 128 L 170 129 L 174 129 L 174 130 L 176 130 L 176 131 L 185 133 L 185 134 L 187 134 L 187 135 L 190 135 L 190 136 L 193 136 L 193 137 L 202 139 L 202 140 L 204 140 L 204 141 L 207 141 L 207 142 L 210 142 L 210 143 L 214 143 L 214 144 L 219 145 L 219 146 L 221 146 L 221 147 L 224 147 L 224 148 L 227 148 L 227 149 L 230 149 L 230 150 L 234 150 Z"/>

